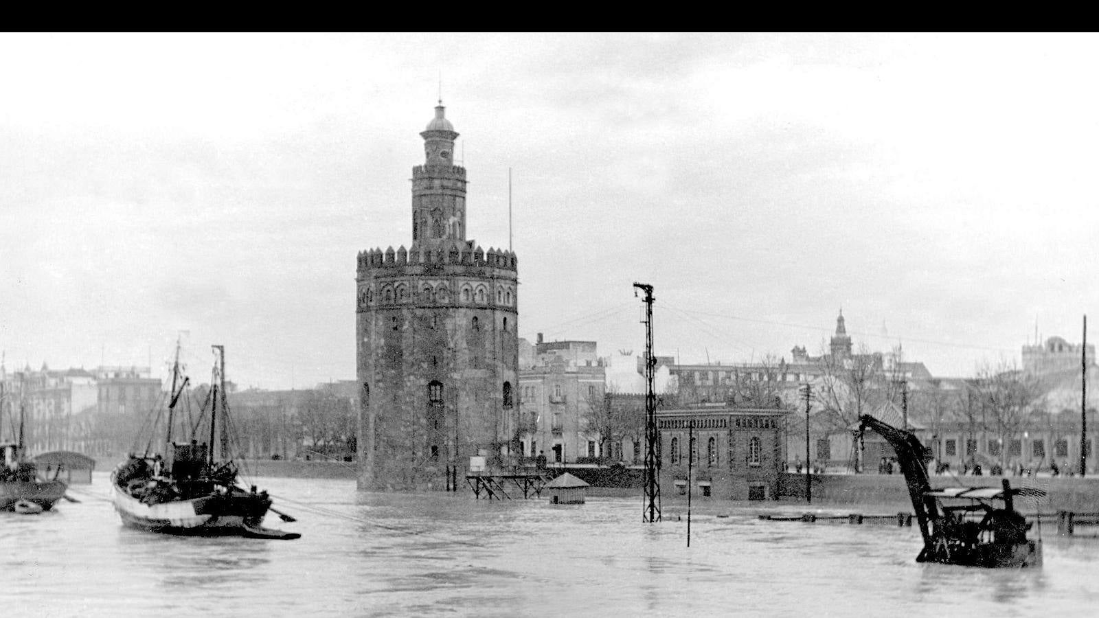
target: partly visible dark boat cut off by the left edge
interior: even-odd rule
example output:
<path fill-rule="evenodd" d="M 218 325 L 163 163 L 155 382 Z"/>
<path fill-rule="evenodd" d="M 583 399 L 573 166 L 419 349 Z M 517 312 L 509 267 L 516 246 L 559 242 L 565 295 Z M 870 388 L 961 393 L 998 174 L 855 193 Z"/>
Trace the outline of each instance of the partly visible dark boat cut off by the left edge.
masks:
<path fill-rule="evenodd" d="M 3 383 L 0 382 L 0 401 L 3 400 Z M 0 407 L 2 412 L 2 407 Z M 54 472 L 53 478 L 46 478 L 38 472 L 38 466 L 26 456 L 23 448 L 23 406 L 19 408 L 19 439 L 14 443 L 0 443 L 0 455 L 3 462 L 0 466 L 0 510 L 19 514 L 37 514 L 54 508 L 58 500 L 65 497 L 68 484 Z M 3 415 L 0 413 L 0 426 Z"/>

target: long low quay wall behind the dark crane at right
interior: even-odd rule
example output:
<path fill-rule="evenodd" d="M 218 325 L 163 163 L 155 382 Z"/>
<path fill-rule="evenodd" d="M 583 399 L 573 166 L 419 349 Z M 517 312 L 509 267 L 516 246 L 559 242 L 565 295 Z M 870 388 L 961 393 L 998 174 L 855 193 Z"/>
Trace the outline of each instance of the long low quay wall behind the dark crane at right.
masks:
<path fill-rule="evenodd" d="M 1000 487 L 1003 476 L 933 476 L 932 487 Z M 1076 512 L 1099 512 L 1099 477 L 1050 477 L 1008 476 L 1012 487 L 1037 487 L 1046 492 L 1039 503 L 1042 512 L 1072 510 Z M 875 505 L 895 506 L 910 511 L 912 501 L 908 496 L 904 476 L 900 474 L 814 474 L 812 475 L 813 501 L 830 505 Z M 781 500 L 806 499 L 806 475 L 782 473 L 779 475 Z M 1015 505 L 1021 511 L 1037 510 L 1029 498 L 1019 499 Z"/>

